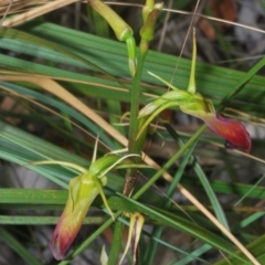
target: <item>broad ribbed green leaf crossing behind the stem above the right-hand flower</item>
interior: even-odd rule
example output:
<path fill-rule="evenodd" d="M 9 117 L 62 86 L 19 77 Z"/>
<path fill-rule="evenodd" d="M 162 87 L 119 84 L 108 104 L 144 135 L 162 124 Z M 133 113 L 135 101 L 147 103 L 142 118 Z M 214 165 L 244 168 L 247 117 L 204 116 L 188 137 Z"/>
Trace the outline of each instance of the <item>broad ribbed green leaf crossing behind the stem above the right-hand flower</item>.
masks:
<path fill-rule="evenodd" d="M 55 41 L 57 44 L 63 46 L 71 46 L 71 49 L 77 54 L 84 56 L 92 56 L 93 51 L 93 63 L 100 65 L 105 71 L 113 74 L 114 76 L 126 76 L 128 73 L 124 70 L 124 65 L 127 64 L 126 47 L 123 43 L 106 40 L 103 38 L 85 34 L 71 29 L 66 29 L 60 25 L 51 23 L 30 23 L 22 26 L 24 31 L 36 34 L 45 40 Z M 263 65 L 264 62 L 261 63 Z M 176 64 L 176 56 L 149 51 L 145 68 L 158 74 L 163 80 L 171 80 L 172 68 Z M 190 60 L 180 59 L 178 67 L 178 87 L 186 89 L 189 81 L 190 73 Z M 214 102 L 219 103 L 224 96 L 231 92 L 231 87 L 234 87 L 240 81 L 243 81 L 245 73 L 224 68 L 220 66 L 213 66 L 210 64 L 197 63 L 197 88 L 199 93 L 202 93 L 209 97 L 214 97 Z M 225 78 L 224 78 L 225 77 Z M 144 72 L 142 82 L 159 84 L 158 81 L 153 80 Z M 233 107 L 240 107 L 247 102 L 250 109 L 257 110 L 257 98 L 258 109 L 264 109 L 265 103 L 263 94 L 264 77 L 254 76 L 244 88 L 236 96 L 240 100 L 232 100 Z M 214 88 L 214 95 L 213 93 Z M 151 92 L 152 94 L 160 94 L 158 89 L 145 88 L 145 92 Z M 253 104 L 253 105 L 252 105 Z M 245 106 L 246 107 L 246 106 Z"/>

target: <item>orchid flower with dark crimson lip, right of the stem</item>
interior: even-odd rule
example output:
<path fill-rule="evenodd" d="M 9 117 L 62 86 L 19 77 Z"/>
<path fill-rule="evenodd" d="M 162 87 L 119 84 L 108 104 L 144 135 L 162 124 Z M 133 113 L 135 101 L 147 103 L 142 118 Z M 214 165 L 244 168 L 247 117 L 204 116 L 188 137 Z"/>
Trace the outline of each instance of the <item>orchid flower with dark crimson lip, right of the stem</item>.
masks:
<path fill-rule="evenodd" d="M 212 102 L 205 99 L 201 94 L 195 92 L 195 57 L 197 46 L 193 33 L 191 74 L 187 91 L 179 89 L 159 76 L 150 73 L 152 76 L 172 88 L 172 91 L 155 99 L 139 112 L 139 130 L 137 139 L 142 138 L 148 125 L 159 113 L 166 108 L 178 106 L 183 113 L 204 120 L 210 129 L 225 139 L 226 148 L 240 148 L 250 152 L 252 142 L 245 127 L 239 121 L 225 119 L 220 114 L 216 114 Z"/>

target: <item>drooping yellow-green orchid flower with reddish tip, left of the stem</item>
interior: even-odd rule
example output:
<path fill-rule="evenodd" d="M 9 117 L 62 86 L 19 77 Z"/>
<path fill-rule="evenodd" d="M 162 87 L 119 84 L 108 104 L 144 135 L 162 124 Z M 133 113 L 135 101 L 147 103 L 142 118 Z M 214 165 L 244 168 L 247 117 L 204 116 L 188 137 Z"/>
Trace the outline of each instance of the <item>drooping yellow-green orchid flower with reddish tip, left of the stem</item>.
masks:
<path fill-rule="evenodd" d="M 54 258 L 57 261 L 65 257 L 65 253 L 75 240 L 92 202 L 98 194 L 100 194 L 104 205 L 114 219 L 114 214 L 103 192 L 103 187 L 107 183 L 105 174 L 113 168 L 134 167 L 132 162 L 127 158 L 136 155 L 127 155 L 121 158 L 116 155 L 108 155 L 96 160 L 96 147 L 97 145 L 95 146 L 93 162 L 88 170 L 67 162 L 56 162 L 75 168 L 82 172 L 70 181 L 68 199 L 49 244 Z M 36 163 L 55 162 L 44 161 Z"/>

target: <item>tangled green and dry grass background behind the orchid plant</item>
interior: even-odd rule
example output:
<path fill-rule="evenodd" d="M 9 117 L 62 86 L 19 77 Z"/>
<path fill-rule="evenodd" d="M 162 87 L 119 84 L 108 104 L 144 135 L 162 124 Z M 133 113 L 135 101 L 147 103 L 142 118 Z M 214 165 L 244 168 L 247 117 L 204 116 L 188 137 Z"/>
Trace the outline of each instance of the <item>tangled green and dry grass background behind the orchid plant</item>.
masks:
<path fill-rule="evenodd" d="M 145 2 L 108 3 L 139 43 Z M 253 264 L 197 202 L 176 188 L 178 183 L 231 231 L 245 253 L 264 264 L 265 3 L 202 0 L 193 15 L 197 3 L 165 1 L 142 71 L 140 104 L 167 91 L 147 71 L 187 88 L 192 23 L 198 91 L 218 106 L 241 88 L 225 102 L 222 115 L 246 126 L 253 139 L 251 153 L 225 149 L 223 139 L 210 130 L 198 142 L 193 138 L 195 146 L 183 146 L 202 123 L 169 109 L 162 117 L 171 126 L 155 124 L 145 152 L 161 167 L 171 161 L 168 172 L 174 181 L 163 177 L 155 181 L 157 170 L 142 169 L 135 192 L 149 180 L 153 184 L 138 200 L 129 200 L 121 195 L 120 170 L 108 176 L 105 192 L 113 211 L 146 216 L 139 264 Z M 112 128 L 128 135 L 127 126 L 117 126 L 130 104 L 126 45 L 86 2 L 3 0 L 0 13 L 7 12 L 0 29 L 0 264 L 100 264 L 103 245 L 110 257 L 123 253 L 123 247 L 113 250 L 115 225 L 107 221 L 100 199 L 89 210 L 85 220 L 89 225 L 83 225 L 67 259 L 55 262 L 47 245 L 76 171 L 31 162 L 63 160 L 87 168 L 97 134 L 98 157 L 123 148 Z M 178 159 L 172 160 L 176 153 Z M 117 222 L 128 225 L 126 218 Z M 128 254 L 124 264 L 132 264 L 132 257 Z"/>

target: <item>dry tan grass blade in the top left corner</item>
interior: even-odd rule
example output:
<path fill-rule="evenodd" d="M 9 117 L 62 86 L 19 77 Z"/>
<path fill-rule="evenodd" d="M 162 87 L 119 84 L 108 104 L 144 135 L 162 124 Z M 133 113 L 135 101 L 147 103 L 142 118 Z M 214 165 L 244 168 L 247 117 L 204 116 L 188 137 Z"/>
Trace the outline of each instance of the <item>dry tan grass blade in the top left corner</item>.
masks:
<path fill-rule="evenodd" d="M 14 26 L 25 21 L 32 20 L 39 15 L 49 13 L 53 10 L 60 9 L 62 7 L 68 6 L 71 3 L 77 2 L 78 0 L 56 0 L 51 1 L 38 8 L 33 8 L 24 13 L 18 14 L 13 18 L 6 19 L 2 23 L 3 26 Z"/>

